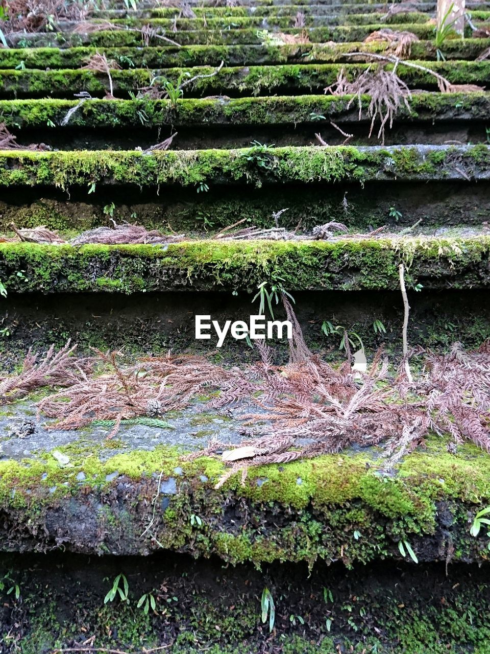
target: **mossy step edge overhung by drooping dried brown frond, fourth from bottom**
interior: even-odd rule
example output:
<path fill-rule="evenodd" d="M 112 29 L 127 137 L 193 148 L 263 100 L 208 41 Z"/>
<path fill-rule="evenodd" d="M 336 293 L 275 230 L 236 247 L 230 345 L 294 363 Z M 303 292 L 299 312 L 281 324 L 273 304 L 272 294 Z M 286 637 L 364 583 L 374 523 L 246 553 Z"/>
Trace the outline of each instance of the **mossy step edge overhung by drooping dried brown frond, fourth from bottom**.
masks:
<path fill-rule="evenodd" d="M 1 51 L 0 51 L 1 52 Z M 333 95 L 286 95 L 279 97 L 242 97 L 221 99 L 181 99 L 175 105 L 169 100 L 87 100 L 74 112 L 65 126 L 67 113 L 78 100 L 0 100 L 0 122 L 16 132 L 24 128 L 106 128 L 191 126 L 263 126 L 312 124 L 312 128 L 328 126 L 334 120 L 359 123 L 359 105 L 348 97 Z M 368 96 L 362 97 L 361 122 L 370 122 Z M 400 107 L 397 122 L 417 121 L 485 121 L 490 120 L 490 97 L 487 93 L 419 93 L 410 99 L 410 109 Z M 44 139 L 50 140 L 50 131 Z"/>

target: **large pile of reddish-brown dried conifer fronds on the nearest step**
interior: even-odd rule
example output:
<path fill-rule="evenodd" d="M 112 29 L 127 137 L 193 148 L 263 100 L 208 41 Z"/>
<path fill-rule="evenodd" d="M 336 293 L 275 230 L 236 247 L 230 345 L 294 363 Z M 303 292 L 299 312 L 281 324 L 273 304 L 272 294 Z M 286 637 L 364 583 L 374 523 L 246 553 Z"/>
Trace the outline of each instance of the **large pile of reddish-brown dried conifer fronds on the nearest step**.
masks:
<path fill-rule="evenodd" d="M 29 353 L 22 372 L 1 381 L 0 394 L 8 402 L 48 383 L 63 385 L 64 390 L 39 402 L 39 411 L 56 419 L 47 428 L 76 429 L 96 419 L 112 420 L 112 437 L 123 419 L 150 415 L 150 410 L 155 415 L 155 407 L 158 413 L 183 409 L 197 396 L 219 390 L 205 409 L 255 409 L 240 414 L 246 439 L 223 454 L 230 468 L 218 487 L 240 471 L 243 479 L 252 466 L 336 453 L 354 444 L 385 443 L 389 467 L 434 432 L 490 452 L 490 341 L 472 353 L 459 343 L 447 354 L 427 353 L 415 381 L 407 378 L 404 361 L 390 374 L 378 351 L 359 381 L 349 361 L 335 368 L 310 352 L 291 304 L 283 301 L 293 324 L 286 366 L 274 365 L 264 343 L 257 345 L 260 362 L 229 370 L 203 356 L 185 355 L 149 357 L 122 367 L 116 353 L 96 351 L 106 371 L 93 377 L 88 374 L 93 362 L 71 358 L 68 344 L 57 354 L 51 349 L 39 364 Z M 420 352 L 407 358 L 414 353 Z M 210 443 L 205 453 L 222 448 Z"/>

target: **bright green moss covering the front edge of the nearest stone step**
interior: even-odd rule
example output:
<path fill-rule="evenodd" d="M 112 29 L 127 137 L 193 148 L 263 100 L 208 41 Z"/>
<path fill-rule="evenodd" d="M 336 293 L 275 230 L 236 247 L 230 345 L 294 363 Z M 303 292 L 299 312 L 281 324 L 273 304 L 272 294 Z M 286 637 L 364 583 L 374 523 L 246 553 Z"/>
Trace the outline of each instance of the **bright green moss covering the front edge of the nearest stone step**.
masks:
<path fill-rule="evenodd" d="M 101 460 L 93 443 L 80 441 L 59 448 L 69 455 L 70 466 L 61 466 L 47 452 L 1 461 L 0 507 L 34 528 L 67 502 L 88 494 L 106 497 L 96 517 L 104 525 L 101 533 L 109 536 L 91 542 L 93 551 L 106 547 L 109 538 L 133 552 L 157 543 L 195 556 L 214 553 L 233 563 L 250 560 L 259 565 L 279 559 L 312 565 L 319 557 L 340 558 L 350 565 L 380 555 L 399 557 L 399 538 L 410 540 L 416 549 L 417 543 L 423 546 L 436 532 L 438 506 L 443 503 L 452 506 L 454 525 L 459 525 L 452 530 L 455 557 L 487 559 L 485 537 L 469 535 L 468 515 L 490 502 L 490 457 L 470 445 L 461 447 L 457 456 L 444 447 L 441 439 L 429 441 L 427 451 L 407 456 L 394 475 L 383 472 L 373 453 L 346 453 L 255 468 L 244 486 L 235 475 L 214 490 L 225 472 L 218 459 L 186 461 L 178 449 L 160 446 Z M 114 504 L 109 498 L 121 479 L 129 483 L 126 489 L 137 491 L 125 490 L 124 504 Z M 157 487 L 167 504 L 154 514 L 148 540 L 140 542 L 138 534 L 148 523 Z M 239 530 L 222 522 L 229 502 L 248 507 L 244 515 L 250 519 L 244 519 Z M 193 524 L 191 515 L 198 515 L 201 524 Z M 269 521 L 274 528 L 259 527 Z M 354 530 L 362 537 L 354 538 Z"/>

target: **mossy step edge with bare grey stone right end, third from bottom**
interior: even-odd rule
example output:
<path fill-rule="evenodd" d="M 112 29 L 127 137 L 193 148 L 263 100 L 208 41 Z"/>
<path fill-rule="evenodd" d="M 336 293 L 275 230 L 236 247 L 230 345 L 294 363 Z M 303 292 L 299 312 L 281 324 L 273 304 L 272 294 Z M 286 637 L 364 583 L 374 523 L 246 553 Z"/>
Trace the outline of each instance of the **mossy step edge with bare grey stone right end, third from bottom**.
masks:
<path fill-rule="evenodd" d="M 489 179 L 490 148 L 474 146 L 267 145 L 153 152 L 0 151 L 0 186 L 284 184 Z"/>

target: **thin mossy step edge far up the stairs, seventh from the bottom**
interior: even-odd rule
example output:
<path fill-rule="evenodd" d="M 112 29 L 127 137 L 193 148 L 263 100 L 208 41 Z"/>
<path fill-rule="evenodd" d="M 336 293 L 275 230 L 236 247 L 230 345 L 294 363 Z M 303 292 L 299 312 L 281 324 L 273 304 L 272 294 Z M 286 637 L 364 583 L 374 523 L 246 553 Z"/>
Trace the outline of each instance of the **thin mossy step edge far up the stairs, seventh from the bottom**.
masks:
<path fill-rule="evenodd" d="M 340 26 L 340 27 L 305 27 L 308 39 L 312 43 L 348 43 L 352 41 L 364 41 L 370 33 L 375 30 L 384 29 L 386 23 L 378 23 L 366 26 Z M 431 40 L 434 38 L 434 26 L 432 24 L 405 24 L 405 31 L 414 33 L 419 39 Z M 297 35 L 298 29 L 284 28 L 285 34 Z M 274 33 L 270 32 L 270 36 Z M 468 27 L 466 37 L 471 36 Z M 177 32 L 167 31 L 167 38 L 181 45 L 231 45 L 231 44 L 262 44 L 267 40 L 263 30 L 258 29 L 216 29 L 212 30 L 182 30 Z M 35 33 L 15 32 L 7 35 L 8 44 L 12 47 L 48 47 L 68 48 L 82 45 L 97 47 L 141 47 L 142 39 L 140 30 L 137 27 L 131 29 L 114 29 L 108 31 L 90 31 L 89 33 L 74 33 L 71 31 L 56 33 Z M 155 46 L 161 45 L 161 40 L 150 37 L 150 43 Z"/>

